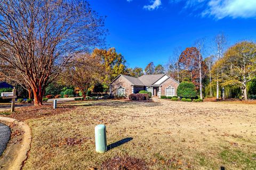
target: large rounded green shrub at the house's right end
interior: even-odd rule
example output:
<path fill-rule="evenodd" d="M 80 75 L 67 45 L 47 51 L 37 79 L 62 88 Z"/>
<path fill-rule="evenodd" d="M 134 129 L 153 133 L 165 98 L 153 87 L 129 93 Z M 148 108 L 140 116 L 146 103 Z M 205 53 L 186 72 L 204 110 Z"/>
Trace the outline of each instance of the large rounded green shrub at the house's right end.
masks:
<path fill-rule="evenodd" d="M 196 87 L 192 82 L 181 82 L 177 88 L 177 95 L 182 98 L 195 98 L 197 96 Z"/>

